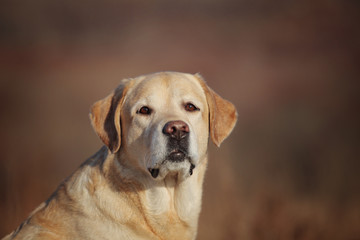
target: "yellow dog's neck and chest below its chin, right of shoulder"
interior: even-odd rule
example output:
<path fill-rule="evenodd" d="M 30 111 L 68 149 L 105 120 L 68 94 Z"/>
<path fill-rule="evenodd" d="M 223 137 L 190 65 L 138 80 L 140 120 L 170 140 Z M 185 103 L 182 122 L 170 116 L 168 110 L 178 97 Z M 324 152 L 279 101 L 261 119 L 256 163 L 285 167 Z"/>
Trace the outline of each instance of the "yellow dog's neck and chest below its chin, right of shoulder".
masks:
<path fill-rule="evenodd" d="M 109 154 L 103 173 L 109 186 L 141 208 L 144 222 L 159 236 L 169 239 L 194 239 L 201 209 L 202 184 L 207 156 L 199 161 L 192 176 L 185 179 L 170 173 L 162 180 L 129 166 L 122 154 Z M 126 165 L 125 165 L 126 164 Z M 116 176 L 116 177 L 114 177 Z"/>

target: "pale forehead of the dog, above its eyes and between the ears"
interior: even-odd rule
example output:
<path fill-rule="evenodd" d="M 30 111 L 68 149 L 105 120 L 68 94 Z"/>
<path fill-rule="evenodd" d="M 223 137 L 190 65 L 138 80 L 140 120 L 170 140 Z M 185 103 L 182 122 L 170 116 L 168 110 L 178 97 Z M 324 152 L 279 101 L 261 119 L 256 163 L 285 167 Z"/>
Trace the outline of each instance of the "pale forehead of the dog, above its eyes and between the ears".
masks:
<path fill-rule="evenodd" d="M 170 102 L 174 99 L 192 98 L 206 101 L 204 90 L 191 74 L 157 73 L 133 79 L 135 83 L 127 93 L 130 105 L 139 100 Z"/>

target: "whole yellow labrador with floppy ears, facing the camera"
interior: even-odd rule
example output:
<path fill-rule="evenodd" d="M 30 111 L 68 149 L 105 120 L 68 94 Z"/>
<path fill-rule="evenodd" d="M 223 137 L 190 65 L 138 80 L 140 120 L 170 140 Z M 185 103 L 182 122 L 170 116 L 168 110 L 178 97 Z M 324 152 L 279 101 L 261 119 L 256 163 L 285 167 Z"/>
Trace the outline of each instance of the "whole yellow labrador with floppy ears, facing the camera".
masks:
<path fill-rule="evenodd" d="M 123 80 L 90 118 L 105 146 L 4 239 L 195 239 L 209 135 L 230 134 L 234 105 L 161 72 Z"/>

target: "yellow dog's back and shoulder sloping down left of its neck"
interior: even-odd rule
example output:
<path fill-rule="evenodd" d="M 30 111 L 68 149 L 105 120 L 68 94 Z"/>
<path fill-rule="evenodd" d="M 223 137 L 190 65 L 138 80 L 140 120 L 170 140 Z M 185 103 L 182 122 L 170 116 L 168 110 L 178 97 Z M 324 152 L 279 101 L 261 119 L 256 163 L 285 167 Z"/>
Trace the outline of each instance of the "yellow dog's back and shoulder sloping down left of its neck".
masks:
<path fill-rule="evenodd" d="M 101 184 L 101 168 L 107 149 L 101 148 L 87 159 L 53 194 L 40 204 L 7 239 L 58 239 L 71 231 L 72 224 L 93 209 L 93 195 Z M 71 234 L 72 235 L 72 234 Z"/>

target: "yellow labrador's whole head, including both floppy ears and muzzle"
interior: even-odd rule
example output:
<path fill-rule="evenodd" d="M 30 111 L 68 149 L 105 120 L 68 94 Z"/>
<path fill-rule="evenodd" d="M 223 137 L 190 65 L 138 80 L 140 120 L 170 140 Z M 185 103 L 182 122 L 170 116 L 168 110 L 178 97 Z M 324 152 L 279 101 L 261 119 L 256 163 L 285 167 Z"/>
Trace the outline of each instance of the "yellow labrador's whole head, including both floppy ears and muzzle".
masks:
<path fill-rule="evenodd" d="M 123 80 L 93 105 L 90 118 L 112 153 L 163 179 L 192 175 L 206 156 L 209 133 L 220 146 L 237 113 L 200 75 L 162 72 Z"/>

